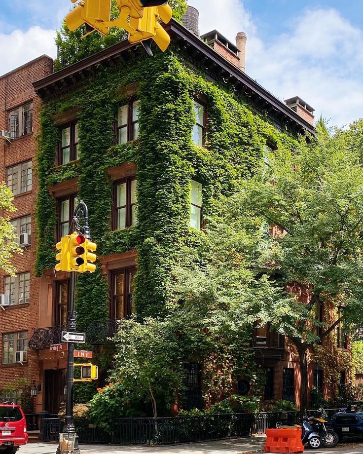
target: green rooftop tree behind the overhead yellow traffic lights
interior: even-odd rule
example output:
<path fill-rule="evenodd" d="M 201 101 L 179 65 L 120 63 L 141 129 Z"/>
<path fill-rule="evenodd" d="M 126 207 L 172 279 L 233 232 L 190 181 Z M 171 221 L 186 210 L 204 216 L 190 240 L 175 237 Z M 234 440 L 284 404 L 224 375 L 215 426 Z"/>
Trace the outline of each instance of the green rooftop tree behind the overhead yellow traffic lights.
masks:
<path fill-rule="evenodd" d="M 119 10 L 117 8 L 117 0 L 112 0 L 111 19 L 115 19 Z M 181 21 L 186 10 L 185 0 L 171 0 L 170 5 L 173 8 L 173 17 Z M 123 29 L 111 28 L 109 35 L 103 36 L 101 33 L 94 32 L 86 38 L 82 38 L 85 34 L 85 26 L 77 28 L 71 32 L 65 21 L 61 29 L 57 30 L 55 43 L 58 46 L 58 58 L 54 62 L 56 70 L 60 70 L 65 66 L 71 65 L 82 58 L 88 57 L 100 50 L 106 49 L 112 44 L 125 39 L 127 33 Z"/>

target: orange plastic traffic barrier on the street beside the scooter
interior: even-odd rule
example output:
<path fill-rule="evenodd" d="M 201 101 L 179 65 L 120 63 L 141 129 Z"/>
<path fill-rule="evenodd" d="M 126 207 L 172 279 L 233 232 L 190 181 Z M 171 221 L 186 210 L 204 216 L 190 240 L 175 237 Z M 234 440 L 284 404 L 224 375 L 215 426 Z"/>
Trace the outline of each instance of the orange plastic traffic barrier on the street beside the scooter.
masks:
<path fill-rule="evenodd" d="M 266 429 L 265 453 L 302 453 L 301 429 Z"/>

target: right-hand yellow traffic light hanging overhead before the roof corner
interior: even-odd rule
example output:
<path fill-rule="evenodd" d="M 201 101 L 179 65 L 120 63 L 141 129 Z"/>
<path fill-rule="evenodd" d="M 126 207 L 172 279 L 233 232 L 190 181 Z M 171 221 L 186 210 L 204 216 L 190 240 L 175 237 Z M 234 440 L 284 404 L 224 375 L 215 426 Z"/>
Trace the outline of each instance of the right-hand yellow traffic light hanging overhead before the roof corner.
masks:
<path fill-rule="evenodd" d="M 150 6 L 143 9 L 141 18 L 130 16 L 129 41 L 131 43 L 145 42 L 146 51 L 152 55 L 150 49 L 150 39 L 153 40 L 164 52 L 170 44 L 170 36 L 159 23 L 159 17 L 164 23 L 168 23 L 173 16 L 173 10 L 169 4 L 162 6 Z"/>

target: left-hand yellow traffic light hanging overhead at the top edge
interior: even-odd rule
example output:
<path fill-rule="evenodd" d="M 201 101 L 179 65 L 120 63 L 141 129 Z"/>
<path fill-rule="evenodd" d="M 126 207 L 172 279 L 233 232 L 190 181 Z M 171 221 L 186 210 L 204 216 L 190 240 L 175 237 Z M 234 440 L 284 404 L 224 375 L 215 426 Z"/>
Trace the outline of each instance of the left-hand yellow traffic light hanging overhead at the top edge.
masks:
<path fill-rule="evenodd" d="M 75 3 L 77 0 L 71 0 Z M 81 0 L 79 4 L 66 15 L 67 27 L 73 32 L 82 24 L 86 26 L 87 35 L 96 30 L 103 35 L 109 34 L 109 23 L 111 14 L 111 0 Z"/>

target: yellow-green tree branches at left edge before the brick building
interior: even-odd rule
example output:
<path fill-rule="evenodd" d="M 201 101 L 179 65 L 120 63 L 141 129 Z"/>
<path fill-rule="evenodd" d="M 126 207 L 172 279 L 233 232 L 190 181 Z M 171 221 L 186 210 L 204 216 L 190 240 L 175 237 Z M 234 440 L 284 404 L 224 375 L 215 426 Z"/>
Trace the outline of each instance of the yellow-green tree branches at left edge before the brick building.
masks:
<path fill-rule="evenodd" d="M 23 251 L 19 248 L 19 244 L 14 241 L 16 234 L 14 227 L 11 225 L 7 216 L 4 216 L 4 211 L 7 213 L 14 212 L 16 208 L 13 205 L 13 195 L 11 190 L 4 184 L 0 184 L 0 269 L 11 276 L 15 275 L 16 268 L 11 263 L 11 258 L 14 254 L 22 254 Z"/>

